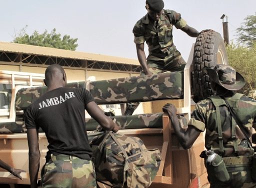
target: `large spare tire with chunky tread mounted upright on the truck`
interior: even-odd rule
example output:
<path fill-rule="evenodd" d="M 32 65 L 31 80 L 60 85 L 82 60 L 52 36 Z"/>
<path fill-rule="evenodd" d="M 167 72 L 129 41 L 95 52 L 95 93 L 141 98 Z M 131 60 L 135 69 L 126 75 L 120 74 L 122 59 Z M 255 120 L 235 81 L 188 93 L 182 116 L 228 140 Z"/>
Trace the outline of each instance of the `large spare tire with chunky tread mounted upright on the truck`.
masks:
<path fill-rule="evenodd" d="M 209 76 L 203 68 L 214 67 L 216 64 L 228 64 L 225 44 L 221 35 L 213 30 L 201 32 L 194 45 L 192 61 L 192 98 L 198 102 L 213 94 Z"/>

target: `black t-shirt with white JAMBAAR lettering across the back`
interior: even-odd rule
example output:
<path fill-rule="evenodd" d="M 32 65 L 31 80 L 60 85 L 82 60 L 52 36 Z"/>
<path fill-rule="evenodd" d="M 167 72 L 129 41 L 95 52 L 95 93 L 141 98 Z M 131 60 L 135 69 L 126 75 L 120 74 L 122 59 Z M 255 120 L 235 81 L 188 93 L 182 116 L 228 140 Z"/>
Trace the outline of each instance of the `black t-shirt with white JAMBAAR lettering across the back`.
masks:
<path fill-rule="evenodd" d="M 91 101 L 94 101 L 93 96 L 84 88 L 59 87 L 46 92 L 27 107 L 26 128 L 41 127 L 49 142 L 46 160 L 50 154 L 91 159 L 84 112 Z"/>

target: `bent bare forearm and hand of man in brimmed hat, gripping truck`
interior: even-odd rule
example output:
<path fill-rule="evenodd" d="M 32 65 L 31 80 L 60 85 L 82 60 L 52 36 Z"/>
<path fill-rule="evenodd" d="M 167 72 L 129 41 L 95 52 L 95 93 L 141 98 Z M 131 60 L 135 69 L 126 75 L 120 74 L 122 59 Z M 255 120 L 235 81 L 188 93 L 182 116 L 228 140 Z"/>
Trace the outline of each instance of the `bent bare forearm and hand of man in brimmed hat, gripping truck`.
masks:
<path fill-rule="evenodd" d="M 178 122 L 176 114 L 177 110 L 173 104 L 165 104 L 162 107 L 162 110 L 168 113 L 168 116 L 172 122 L 173 129 L 175 131 L 175 135 L 177 136 L 181 146 L 184 149 L 190 148 L 193 145 L 196 138 L 199 136 L 200 130 L 195 128 L 194 126 L 188 126 L 186 130 L 183 129 Z"/>

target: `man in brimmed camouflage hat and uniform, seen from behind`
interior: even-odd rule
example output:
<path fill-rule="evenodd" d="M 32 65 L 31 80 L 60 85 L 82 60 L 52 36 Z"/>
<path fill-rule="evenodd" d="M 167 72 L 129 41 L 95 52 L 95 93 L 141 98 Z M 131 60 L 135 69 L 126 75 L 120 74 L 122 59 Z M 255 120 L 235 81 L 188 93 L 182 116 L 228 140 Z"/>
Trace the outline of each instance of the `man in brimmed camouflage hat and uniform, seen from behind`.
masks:
<path fill-rule="evenodd" d="M 190 148 L 200 132 L 206 129 L 205 147 L 222 156 L 230 176 L 228 181 L 220 182 L 213 181 L 208 174 L 211 188 L 256 187 L 256 182 L 251 179 L 251 160 L 254 149 L 236 124 L 222 98 L 225 98 L 233 108 L 249 137 L 252 136 L 252 128 L 256 128 L 254 124 L 256 100 L 233 92 L 233 90 L 242 88 L 245 81 L 242 75 L 235 72 L 231 66 L 217 64 L 213 69 L 205 68 L 204 71 L 211 78 L 211 86 L 216 90 L 216 94 L 196 103 L 186 131 L 178 125 L 176 109 L 172 104 L 165 104 L 163 111 L 170 116 L 175 134 L 184 149 Z M 222 141 L 218 135 L 217 109 L 219 109 Z M 235 129 L 234 133 L 231 131 L 231 126 L 235 127 L 232 128 L 232 130 Z M 231 136 L 232 134 L 235 136 Z M 223 152 L 221 152 L 221 147 Z"/>

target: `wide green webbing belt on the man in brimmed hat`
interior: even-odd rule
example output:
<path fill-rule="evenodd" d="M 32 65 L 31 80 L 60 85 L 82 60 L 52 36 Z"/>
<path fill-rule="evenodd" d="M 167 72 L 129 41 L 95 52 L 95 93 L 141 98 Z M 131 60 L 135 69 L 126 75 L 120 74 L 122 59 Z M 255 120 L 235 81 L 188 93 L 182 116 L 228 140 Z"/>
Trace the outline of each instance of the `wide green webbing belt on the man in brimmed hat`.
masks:
<path fill-rule="evenodd" d="M 226 166 L 237 164 L 250 164 L 252 162 L 252 155 L 249 156 L 228 156 L 223 157 L 223 162 Z"/>

